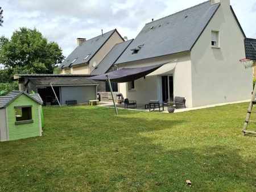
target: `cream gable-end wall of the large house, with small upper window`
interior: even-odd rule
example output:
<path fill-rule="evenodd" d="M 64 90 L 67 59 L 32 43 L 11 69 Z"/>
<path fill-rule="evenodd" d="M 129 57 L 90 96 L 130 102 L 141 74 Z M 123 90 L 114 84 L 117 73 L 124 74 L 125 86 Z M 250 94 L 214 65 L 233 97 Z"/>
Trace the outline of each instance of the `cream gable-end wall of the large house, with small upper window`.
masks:
<path fill-rule="evenodd" d="M 221 6 L 191 51 L 192 105 L 243 101 L 250 98 L 253 70 L 245 70 L 244 36 L 230 10 Z M 212 48 L 211 31 L 220 32 L 220 48 Z"/>

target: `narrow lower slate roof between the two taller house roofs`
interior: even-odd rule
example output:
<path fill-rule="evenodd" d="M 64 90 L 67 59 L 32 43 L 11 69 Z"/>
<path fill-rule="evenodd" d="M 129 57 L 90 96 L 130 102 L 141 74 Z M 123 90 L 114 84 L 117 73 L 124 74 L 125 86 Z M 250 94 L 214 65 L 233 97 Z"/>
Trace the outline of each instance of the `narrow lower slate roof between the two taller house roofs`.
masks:
<path fill-rule="evenodd" d="M 106 73 L 111 66 L 118 60 L 126 48 L 131 44 L 133 39 L 124 41 L 122 43 L 116 44 L 104 57 L 104 59 L 97 65 L 97 67 L 92 71 L 91 75 L 98 75 Z"/>

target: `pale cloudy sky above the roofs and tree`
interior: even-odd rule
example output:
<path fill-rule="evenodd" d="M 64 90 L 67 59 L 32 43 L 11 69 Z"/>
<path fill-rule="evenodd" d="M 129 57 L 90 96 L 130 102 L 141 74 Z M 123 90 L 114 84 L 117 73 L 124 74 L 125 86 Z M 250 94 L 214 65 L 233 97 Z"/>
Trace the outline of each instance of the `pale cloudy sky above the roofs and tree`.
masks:
<path fill-rule="evenodd" d="M 223 1 L 223 0 L 222 0 Z M 226 0 L 228 1 L 228 0 Z M 36 28 L 68 56 L 76 38 L 90 39 L 117 28 L 135 38 L 145 23 L 195 6 L 205 0 L 1 0 L 4 23 L 0 36 L 11 37 L 19 27 Z M 256 38 L 256 0 L 230 0 L 247 37 Z"/>

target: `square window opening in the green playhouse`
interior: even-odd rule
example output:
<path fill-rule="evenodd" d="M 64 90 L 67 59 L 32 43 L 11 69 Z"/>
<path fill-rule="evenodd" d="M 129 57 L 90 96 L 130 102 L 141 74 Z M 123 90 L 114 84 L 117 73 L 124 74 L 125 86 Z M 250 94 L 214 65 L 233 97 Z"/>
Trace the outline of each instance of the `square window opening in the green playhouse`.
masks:
<path fill-rule="evenodd" d="M 15 107 L 15 124 L 32 123 L 32 106 Z"/>

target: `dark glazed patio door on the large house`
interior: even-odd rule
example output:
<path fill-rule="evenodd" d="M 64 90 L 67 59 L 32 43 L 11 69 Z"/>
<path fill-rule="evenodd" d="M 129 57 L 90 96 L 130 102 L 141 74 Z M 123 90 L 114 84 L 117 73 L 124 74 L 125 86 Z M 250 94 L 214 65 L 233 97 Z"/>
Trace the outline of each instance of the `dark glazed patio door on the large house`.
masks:
<path fill-rule="evenodd" d="M 174 101 L 174 77 L 162 76 L 163 102 Z"/>

